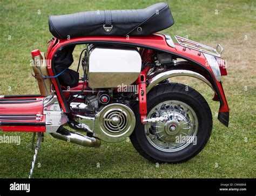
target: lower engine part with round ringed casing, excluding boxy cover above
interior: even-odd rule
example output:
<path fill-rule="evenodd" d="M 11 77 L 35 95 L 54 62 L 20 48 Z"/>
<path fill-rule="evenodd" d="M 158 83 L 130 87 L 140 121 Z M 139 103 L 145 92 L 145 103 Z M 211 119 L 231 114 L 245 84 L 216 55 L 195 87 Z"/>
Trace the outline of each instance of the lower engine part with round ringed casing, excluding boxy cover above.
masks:
<path fill-rule="evenodd" d="M 128 104 L 102 104 L 97 96 L 92 95 L 93 102 L 71 102 L 70 108 L 75 118 L 69 125 L 102 139 L 105 142 L 120 142 L 129 137 L 135 127 L 136 118 Z M 90 98 L 89 98 L 90 99 Z M 99 106 L 98 108 L 95 108 Z"/>

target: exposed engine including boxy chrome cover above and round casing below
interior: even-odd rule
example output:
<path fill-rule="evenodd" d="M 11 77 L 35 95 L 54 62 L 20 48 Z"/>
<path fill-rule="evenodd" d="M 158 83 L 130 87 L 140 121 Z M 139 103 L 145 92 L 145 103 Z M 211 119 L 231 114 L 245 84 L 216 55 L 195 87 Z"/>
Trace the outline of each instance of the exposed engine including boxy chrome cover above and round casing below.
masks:
<path fill-rule="evenodd" d="M 82 66 L 88 86 L 68 100 L 75 116 L 70 127 L 105 142 L 123 141 L 135 127 L 131 104 L 137 95 L 118 88 L 131 85 L 140 74 L 142 59 L 137 48 L 89 45 Z"/>

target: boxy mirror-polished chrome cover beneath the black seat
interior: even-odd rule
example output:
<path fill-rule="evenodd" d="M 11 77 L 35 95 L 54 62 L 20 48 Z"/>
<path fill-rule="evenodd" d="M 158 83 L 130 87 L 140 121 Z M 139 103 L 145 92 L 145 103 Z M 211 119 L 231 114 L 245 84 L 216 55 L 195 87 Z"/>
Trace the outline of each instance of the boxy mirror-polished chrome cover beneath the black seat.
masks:
<path fill-rule="evenodd" d="M 93 45 L 88 54 L 90 88 L 131 85 L 140 74 L 142 58 L 136 48 Z"/>

